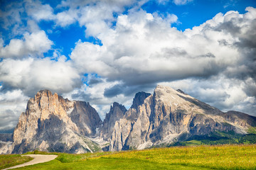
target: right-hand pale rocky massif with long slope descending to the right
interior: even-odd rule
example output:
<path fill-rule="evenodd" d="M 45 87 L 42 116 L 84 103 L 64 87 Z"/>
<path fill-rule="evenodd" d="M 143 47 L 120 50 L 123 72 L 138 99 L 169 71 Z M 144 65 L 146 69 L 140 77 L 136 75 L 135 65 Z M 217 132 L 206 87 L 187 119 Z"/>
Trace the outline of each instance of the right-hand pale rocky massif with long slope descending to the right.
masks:
<path fill-rule="evenodd" d="M 153 95 L 115 123 L 110 150 L 144 149 L 215 130 L 246 133 L 255 123 L 245 113 L 223 113 L 181 90 L 156 86 Z"/>

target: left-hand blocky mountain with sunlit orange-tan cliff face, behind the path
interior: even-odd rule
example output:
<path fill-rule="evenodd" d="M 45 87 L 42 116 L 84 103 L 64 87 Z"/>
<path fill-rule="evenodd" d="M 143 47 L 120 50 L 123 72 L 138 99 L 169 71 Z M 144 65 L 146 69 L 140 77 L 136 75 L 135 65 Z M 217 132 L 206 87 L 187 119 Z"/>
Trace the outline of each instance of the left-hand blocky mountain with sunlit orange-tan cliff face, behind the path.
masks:
<path fill-rule="evenodd" d="M 95 135 L 102 124 L 89 103 L 69 101 L 48 90 L 28 101 L 14 130 L 12 153 L 33 149 L 55 152 L 92 152 L 95 145 L 85 135 Z"/>

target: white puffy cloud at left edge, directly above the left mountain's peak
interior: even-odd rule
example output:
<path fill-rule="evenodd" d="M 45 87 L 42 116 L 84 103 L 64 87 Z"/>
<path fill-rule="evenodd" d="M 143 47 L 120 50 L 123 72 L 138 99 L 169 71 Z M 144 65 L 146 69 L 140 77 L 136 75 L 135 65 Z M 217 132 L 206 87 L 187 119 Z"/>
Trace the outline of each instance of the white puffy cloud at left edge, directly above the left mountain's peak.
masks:
<path fill-rule="evenodd" d="M 27 96 L 33 96 L 41 89 L 60 94 L 80 87 L 80 74 L 65 58 L 58 61 L 33 59 L 6 59 L 0 62 L 0 81 L 3 88 L 21 89 Z"/>

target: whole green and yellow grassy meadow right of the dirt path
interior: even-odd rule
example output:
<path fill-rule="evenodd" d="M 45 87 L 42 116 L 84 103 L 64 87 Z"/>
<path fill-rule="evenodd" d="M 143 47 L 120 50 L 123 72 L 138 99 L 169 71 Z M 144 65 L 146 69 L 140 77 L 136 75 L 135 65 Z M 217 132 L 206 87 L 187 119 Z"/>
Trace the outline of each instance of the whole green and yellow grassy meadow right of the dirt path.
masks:
<path fill-rule="evenodd" d="M 256 169 L 256 145 L 55 154 L 59 156 L 51 162 L 21 169 Z"/>

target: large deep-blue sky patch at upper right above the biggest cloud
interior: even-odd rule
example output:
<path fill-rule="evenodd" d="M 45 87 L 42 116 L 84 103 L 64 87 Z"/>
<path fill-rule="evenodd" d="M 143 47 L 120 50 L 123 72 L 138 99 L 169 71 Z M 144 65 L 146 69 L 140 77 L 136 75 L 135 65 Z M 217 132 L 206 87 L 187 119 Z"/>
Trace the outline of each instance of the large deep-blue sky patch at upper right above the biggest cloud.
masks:
<path fill-rule="evenodd" d="M 256 1 L 223 1 L 223 0 L 195 0 L 185 5 L 176 5 L 173 1 L 159 4 L 157 1 L 149 1 L 142 8 L 150 13 L 174 13 L 178 16 L 180 24 L 174 25 L 178 30 L 185 30 L 199 26 L 201 23 L 213 18 L 217 13 L 227 11 L 239 11 L 245 13 L 247 6 L 255 6 Z"/>

